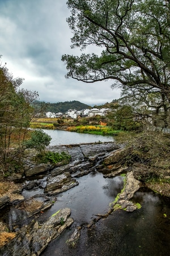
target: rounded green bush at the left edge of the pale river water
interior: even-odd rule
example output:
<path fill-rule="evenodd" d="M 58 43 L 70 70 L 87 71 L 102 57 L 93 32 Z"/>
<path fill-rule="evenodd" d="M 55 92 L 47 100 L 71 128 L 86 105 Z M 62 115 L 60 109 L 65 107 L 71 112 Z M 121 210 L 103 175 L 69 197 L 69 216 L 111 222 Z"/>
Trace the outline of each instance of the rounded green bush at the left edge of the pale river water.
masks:
<path fill-rule="evenodd" d="M 25 148 L 35 148 L 35 150 L 42 152 L 45 150 L 45 147 L 49 145 L 51 137 L 44 133 L 44 131 L 38 129 L 32 131 L 31 138 L 23 143 Z"/>

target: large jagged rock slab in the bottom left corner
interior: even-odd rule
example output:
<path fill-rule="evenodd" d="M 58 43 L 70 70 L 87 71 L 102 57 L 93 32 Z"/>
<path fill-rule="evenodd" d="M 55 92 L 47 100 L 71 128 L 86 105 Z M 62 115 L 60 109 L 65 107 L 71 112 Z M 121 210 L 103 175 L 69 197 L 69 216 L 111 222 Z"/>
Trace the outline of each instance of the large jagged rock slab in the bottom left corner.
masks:
<path fill-rule="evenodd" d="M 74 221 L 69 218 L 71 210 L 61 209 L 53 214 L 44 224 L 32 221 L 20 229 L 16 237 L 0 248 L 1 256 L 36 256 L 48 246 L 49 242 L 58 237 L 64 229 Z"/>

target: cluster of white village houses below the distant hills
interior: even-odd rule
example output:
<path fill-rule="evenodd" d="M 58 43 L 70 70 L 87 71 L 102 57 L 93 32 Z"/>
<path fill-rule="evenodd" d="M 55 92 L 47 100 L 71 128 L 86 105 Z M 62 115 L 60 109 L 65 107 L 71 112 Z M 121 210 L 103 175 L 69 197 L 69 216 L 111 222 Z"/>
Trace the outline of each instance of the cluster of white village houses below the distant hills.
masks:
<path fill-rule="evenodd" d="M 63 113 L 52 113 L 52 112 L 47 112 L 46 113 L 46 117 L 48 118 L 61 118 L 61 117 L 65 117 L 65 118 L 73 118 L 76 119 L 78 117 L 95 117 L 95 115 L 100 115 L 101 117 L 105 117 L 105 115 L 107 115 L 109 112 L 111 112 L 111 109 L 106 109 L 106 108 L 101 108 L 101 109 L 97 109 L 97 108 L 92 108 L 92 109 L 83 109 L 83 110 L 73 110 L 73 109 L 69 109 L 67 110 L 67 112 L 65 114 Z"/>

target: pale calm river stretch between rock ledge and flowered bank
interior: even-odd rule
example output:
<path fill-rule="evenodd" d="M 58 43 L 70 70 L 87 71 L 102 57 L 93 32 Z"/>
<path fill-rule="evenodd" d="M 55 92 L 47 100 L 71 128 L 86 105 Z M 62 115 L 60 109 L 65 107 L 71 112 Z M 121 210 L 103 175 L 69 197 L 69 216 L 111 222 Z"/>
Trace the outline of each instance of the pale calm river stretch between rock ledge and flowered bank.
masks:
<path fill-rule="evenodd" d="M 45 133 L 52 137 L 50 146 L 66 145 L 66 144 L 79 144 L 79 143 L 92 143 L 92 142 L 110 142 L 114 141 L 112 136 L 103 136 L 96 134 L 83 134 L 71 131 L 62 130 L 43 130 Z"/>

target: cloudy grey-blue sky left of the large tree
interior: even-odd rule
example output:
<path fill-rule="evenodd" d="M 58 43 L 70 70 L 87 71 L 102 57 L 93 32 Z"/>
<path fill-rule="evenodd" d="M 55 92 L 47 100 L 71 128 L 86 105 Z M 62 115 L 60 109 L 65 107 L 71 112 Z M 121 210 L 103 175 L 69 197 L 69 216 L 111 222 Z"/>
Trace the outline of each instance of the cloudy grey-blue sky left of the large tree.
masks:
<path fill-rule="evenodd" d="M 71 49 L 72 32 L 66 0 L 0 0 L 0 55 L 21 88 L 39 92 L 40 101 L 77 100 L 94 106 L 120 97 L 112 81 L 86 84 L 65 79 L 61 56 L 78 55 Z M 95 51 L 95 49 L 94 49 Z"/>

